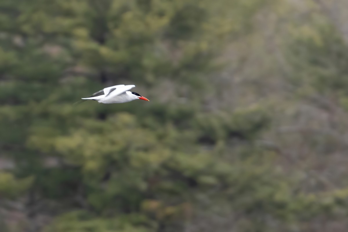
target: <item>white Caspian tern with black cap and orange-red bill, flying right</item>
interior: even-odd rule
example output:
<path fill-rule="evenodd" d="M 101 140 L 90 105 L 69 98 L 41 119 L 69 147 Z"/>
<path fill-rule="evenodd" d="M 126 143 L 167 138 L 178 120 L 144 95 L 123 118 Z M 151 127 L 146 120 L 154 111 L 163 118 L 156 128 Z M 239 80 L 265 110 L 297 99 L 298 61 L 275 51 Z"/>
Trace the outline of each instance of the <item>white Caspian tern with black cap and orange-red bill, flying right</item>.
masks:
<path fill-rule="evenodd" d="M 136 99 L 142 99 L 145 101 L 150 101 L 146 97 L 141 96 L 135 92 L 128 91 L 134 88 L 135 85 L 115 85 L 106 87 L 98 92 L 92 94 L 89 97 L 81 98 L 84 100 L 96 100 L 104 104 L 112 103 L 125 103 L 131 102 Z"/>

